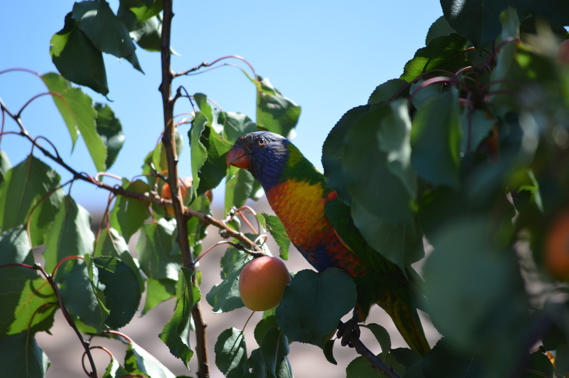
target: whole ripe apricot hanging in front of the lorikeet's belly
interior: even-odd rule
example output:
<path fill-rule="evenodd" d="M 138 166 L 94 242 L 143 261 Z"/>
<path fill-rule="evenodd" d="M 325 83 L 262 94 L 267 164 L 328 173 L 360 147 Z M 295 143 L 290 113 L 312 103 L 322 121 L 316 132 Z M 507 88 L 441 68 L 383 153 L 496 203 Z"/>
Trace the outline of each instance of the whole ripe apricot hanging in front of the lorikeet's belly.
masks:
<path fill-rule="evenodd" d="M 290 284 L 290 274 L 278 257 L 257 257 L 241 271 L 239 293 L 248 309 L 266 311 L 281 302 L 287 284 Z"/>

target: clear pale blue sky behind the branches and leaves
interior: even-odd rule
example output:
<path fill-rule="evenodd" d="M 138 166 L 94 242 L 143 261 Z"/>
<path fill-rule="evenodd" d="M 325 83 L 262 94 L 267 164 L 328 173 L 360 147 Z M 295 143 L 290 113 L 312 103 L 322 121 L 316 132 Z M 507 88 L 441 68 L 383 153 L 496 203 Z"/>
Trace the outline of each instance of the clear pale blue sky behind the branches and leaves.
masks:
<path fill-rule="evenodd" d="M 111 0 L 113 10 L 118 1 Z M 0 70 L 23 67 L 39 73 L 56 71 L 49 55 L 51 36 L 63 27 L 73 1 L 4 2 L 0 23 Z M 172 46 L 182 56 L 172 57 L 172 68 L 181 71 L 202 61 L 241 55 L 257 74 L 269 77 L 283 95 L 302 106 L 296 127 L 296 146 L 321 169 L 321 147 L 329 130 L 354 106 L 367 102 L 373 89 L 399 77 L 403 65 L 424 46 L 428 27 L 442 15 L 438 1 L 174 1 Z M 121 120 L 126 140 L 109 172 L 131 178 L 141 172 L 142 160 L 154 148 L 162 130 L 160 56 L 137 49 L 145 75 L 127 62 L 104 54 L 110 106 Z M 239 63 L 234 61 L 233 63 Z M 245 67 L 243 65 L 243 67 Z M 224 111 L 238 111 L 254 119 L 255 88 L 240 70 L 223 67 L 174 81 L 189 93 L 205 93 Z M 94 101 L 107 102 L 83 88 Z M 12 111 L 28 99 L 46 92 L 43 83 L 28 73 L 0 75 L 0 97 Z M 178 101 L 175 114 L 191 111 Z M 83 140 L 71 153 L 71 138 L 49 96 L 40 97 L 23 113 L 32 136 L 43 135 L 59 149 L 77 171 L 96 173 Z M 180 156 L 180 173 L 190 176 L 189 125 L 180 127 L 186 145 Z M 17 130 L 10 119 L 5 130 Z M 30 153 L 20 136 L 6 135 L 0 146 L 13 165 Z M 63 181 L 71 178 L 35 150 L 35 156 L 56 169 Z M 111 182 L 108 178 L 105 181 Z M 222 185 L 220 185 L 222 188 Z M 222 189 L 215 191 L 218 204 Z M 73 184 L 72 196 L 94 212 L 106 205 L 108 193 L 90 184 Z"/>

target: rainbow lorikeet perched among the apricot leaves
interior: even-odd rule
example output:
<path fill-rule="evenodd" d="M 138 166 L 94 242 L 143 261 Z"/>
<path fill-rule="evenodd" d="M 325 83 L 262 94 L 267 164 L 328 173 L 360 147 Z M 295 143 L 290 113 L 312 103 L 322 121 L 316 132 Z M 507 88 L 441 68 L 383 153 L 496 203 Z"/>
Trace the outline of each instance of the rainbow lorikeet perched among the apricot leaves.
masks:
<path fill-rule="evenodd" d="M 409 267 L 405 274 L 365 243 L 350 207 L 294 144 L 272 132 L 251 132 L 236 140 L 226 161 L 261 183 L 292 244 L 313 267 L 337 267 L 352 277 L 359 321 L 377 303 L 411 349 L 421 356 L 430 350 L 415 304 L 417 272 Z"/>

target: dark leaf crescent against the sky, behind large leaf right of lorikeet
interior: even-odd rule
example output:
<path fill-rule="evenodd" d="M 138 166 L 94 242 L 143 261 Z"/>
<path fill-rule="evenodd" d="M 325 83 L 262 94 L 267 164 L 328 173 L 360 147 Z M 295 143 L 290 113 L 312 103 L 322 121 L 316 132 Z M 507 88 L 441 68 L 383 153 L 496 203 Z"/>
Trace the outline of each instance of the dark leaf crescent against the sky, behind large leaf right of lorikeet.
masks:
<path fill-rule="evenodd" d="M 378 88 L 380 87 L 381 85 Z M 322 146 L 322 166 L 324 167 L 326 182 L 336 190 L 340 199 L 348 205 L 352 203 L 352 197 L 342 170 L 345 138 L 354 124 L 368 114 L 368 111 L 369 106 L 367 105 L 348 110 L 330 130 Z"/>

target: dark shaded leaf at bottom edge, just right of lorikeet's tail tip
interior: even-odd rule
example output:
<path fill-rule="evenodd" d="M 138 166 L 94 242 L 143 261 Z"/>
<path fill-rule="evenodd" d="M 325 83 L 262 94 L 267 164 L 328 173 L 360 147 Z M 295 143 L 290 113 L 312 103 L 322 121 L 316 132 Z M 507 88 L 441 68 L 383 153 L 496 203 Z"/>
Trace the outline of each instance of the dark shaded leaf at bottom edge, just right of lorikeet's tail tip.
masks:
<path fill-rule="evenodd" d="M 452 346 L 445 337 L 423 356 L 421 367 L 424 378 L 483 376 L 476 356 Z"/>

